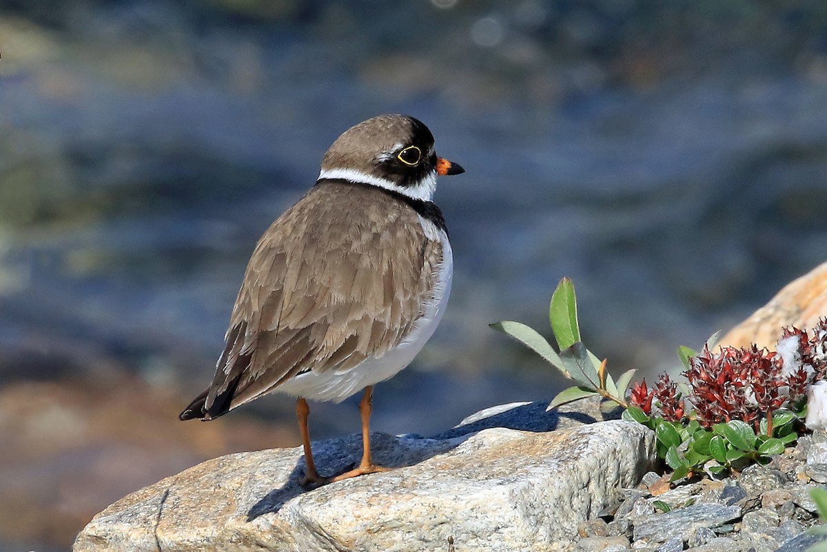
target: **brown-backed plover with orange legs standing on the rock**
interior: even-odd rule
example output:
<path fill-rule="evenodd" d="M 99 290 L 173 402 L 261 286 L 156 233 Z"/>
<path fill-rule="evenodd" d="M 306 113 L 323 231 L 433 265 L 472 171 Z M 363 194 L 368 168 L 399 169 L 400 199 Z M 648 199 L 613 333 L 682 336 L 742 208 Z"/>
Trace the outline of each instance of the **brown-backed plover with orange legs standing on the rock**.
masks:
<path fill-rule="evenodd" d="M 213 382 L 179 418 L 213 420 L 286 393 L 296 397 L 302 486 L 385 471 L 370 454 L 373 388 L 411 363 L 445 312 L 453 256 L 433 195 L 437 176 L 464 172 L 414 117 L 380 115 L 342 133 L 313 187 L 256 244 Z M 361 462 L 323 477 L 308 400 L 362 390 Z"/>

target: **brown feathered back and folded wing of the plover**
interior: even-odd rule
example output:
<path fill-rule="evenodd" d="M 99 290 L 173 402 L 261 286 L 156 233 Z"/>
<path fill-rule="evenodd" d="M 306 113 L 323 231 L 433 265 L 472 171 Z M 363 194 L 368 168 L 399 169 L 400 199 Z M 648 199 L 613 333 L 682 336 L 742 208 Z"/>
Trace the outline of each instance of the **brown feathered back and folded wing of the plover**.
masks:
<path fill-rule="evenodd" d="M 441 261 L 404 202 L 370 187 L 316 186 L 256 245 L 203 416 L 301 372 L 347 370 L 393 349 L 422 316 Z"/>

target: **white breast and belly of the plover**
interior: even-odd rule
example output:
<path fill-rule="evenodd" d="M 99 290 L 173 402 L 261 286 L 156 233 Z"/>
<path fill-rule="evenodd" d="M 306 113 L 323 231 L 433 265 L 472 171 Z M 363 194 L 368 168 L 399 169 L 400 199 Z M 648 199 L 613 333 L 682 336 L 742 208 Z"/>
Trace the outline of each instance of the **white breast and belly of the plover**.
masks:
<path fill-rule="evenodd" d="M 423 231 L 429 239 L 442 242 L 442 262 L 437 266 L 437 281 L 433 288 L 433 299 L 426 303 L 423 316 L 414 323 L 414 328 L 393 350 L 380 357 L 366 359 L 356 368 L 345 372 L 333 370 L 317 373 L 310 371 L 282 383 L 274 391 L 298 395 L 311 400 L 341 402 L 369 385 L 375 385 L 391 378 L 414 360 L 425 343 L 436 331 L 451 293 L 451 278 L 454 259 L 451 244 L 446 233 L 433 222 L 420 217 Z"/>

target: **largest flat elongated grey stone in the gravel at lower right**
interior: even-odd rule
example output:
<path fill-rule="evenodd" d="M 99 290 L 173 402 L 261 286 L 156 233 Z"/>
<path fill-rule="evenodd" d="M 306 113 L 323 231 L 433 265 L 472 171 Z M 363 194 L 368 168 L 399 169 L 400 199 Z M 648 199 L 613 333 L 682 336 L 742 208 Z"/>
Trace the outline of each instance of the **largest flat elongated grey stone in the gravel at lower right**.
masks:
<path fill-rule="evenodd" d="M 693 504 L 679 510 L 638 520 L 634 526 L 634 539 L 662 542 L 673 535 L 681 535 L 684 540 L 689 540 L 691 532 L 697 527 L 715 529 L 740 516 L 741 508 L 737 506 L 724 506 L 711 502 Z"/>

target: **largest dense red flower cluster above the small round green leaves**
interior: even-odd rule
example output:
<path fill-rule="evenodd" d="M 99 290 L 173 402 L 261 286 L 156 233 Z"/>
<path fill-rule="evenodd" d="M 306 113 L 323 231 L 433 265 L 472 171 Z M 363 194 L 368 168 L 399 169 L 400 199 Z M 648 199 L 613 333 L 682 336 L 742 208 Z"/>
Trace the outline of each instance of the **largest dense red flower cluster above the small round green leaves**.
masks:
<path fill-rule="evenodd" d="M 762 413 L 777 410 L 805 393 L 809 374 L 799 367 L 782 373 L 782 358 L 766 349 L 708 347 L 690 359 L 684 372 L 692 388 L 690 400 L 701 426 L 733 419 L 753 424 L 758 431 Z"/>

